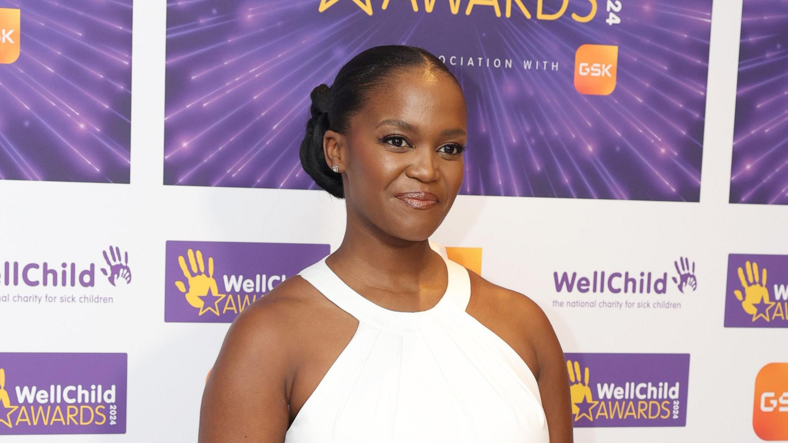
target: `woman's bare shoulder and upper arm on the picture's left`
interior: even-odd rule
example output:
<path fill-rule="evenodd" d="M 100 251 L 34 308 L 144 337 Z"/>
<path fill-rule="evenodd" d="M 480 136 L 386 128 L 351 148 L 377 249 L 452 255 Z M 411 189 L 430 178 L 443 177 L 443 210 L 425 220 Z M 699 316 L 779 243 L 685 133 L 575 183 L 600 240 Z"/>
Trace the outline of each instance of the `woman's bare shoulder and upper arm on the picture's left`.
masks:
<path fill-rule="evenodd" d="M 296 370 L 303 355 L 314 352 L 312 343 L 322 340 L 322 319 L 336 309 L 297 275 L 244 309 L 230 325 L 207 380 L 199 441 L 284 439 Z"/>

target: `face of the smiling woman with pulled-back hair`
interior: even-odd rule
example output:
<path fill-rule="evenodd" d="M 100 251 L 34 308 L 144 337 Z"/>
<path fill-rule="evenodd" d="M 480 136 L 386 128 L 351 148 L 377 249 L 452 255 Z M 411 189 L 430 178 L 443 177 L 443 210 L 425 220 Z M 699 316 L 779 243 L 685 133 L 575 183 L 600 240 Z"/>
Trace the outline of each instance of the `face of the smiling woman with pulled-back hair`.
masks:
<path fill-rule="evenodd" d="M 432 235 L 463 182 L 466 120 L 462 91 L 439 70 L 372 91 L 336 143 L 348 217 L 403 240 Z"/>

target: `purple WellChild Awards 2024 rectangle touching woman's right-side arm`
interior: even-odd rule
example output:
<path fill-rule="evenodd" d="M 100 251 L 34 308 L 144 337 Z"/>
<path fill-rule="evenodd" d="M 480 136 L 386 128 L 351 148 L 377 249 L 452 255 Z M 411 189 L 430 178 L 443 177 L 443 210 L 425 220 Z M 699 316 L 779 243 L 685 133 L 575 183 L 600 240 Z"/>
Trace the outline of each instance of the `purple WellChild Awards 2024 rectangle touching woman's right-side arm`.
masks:
<path fill-rule="evenodd" d="M 575 427 L 685 426 L 689 354 L 565 356 Z"/>

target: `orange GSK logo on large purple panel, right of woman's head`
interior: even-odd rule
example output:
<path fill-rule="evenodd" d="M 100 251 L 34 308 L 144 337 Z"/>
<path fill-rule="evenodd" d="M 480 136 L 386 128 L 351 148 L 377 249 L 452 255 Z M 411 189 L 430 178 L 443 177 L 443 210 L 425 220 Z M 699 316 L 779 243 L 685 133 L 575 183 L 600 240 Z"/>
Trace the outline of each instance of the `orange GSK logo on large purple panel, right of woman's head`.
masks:
<path fill-rule="evenodd" d="M 608 95 L 615 89 L 619 47 L 582 45 L 574 54 L 574 88 L 581 94 Z"/>

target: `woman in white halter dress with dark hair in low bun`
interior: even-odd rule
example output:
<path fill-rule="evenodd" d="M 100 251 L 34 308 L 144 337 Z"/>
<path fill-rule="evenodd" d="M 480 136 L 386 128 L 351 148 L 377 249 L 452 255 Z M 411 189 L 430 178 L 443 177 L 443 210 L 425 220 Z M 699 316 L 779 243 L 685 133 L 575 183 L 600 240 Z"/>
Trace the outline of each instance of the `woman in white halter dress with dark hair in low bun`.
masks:
<path fill-rule="evenodd" d="M 417 47 L 373 47 L 311 99 L 301 162 L 346 200 L 344 240 L 232 323 L 199 441 L 571 442 L 545 314 L 428 240 L 463 181 L 452 73 Z"/>

